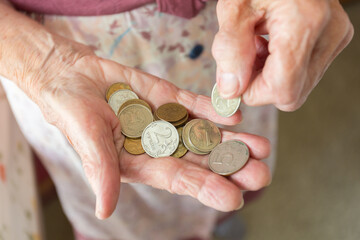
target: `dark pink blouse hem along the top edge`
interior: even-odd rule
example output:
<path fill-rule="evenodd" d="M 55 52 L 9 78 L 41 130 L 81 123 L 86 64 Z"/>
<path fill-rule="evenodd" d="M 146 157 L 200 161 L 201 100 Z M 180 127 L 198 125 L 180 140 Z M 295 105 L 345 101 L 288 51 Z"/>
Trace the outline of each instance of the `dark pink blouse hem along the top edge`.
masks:
<path fill-rule="evenodd" d="M 160 12 L 192 18 L 207 0 L 10 0 L 22 11 L 67 16 L 96 16 L 126 12 L 156 2 Z"/>

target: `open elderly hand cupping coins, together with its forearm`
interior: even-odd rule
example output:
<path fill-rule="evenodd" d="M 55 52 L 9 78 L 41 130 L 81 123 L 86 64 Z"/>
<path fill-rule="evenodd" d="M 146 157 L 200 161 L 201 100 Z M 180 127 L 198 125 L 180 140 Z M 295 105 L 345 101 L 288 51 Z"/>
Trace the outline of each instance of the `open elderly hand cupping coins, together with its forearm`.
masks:
<path fill-rule="evenodd" d="M 106 89 L 123 81 L 156 109 L 178 102 L 191 117 L 221 124 L 236 124 L 219 117 L 208 97 L 181 90 L 165 80 L 94 55 L 84 45 L 48 32 L 43 26 L 0 4 L 0 74 L 12 79 L 39 105 L 46 120 L 58 127 L 79 154 L 85 175 L 96 194 L 96 216 L 114 211 L 120 182 L 143 183 L 176 194 L 190 195 L 221 211 L 239 208 L 241 190 L 269 184 L 265 163 L 269 143 L 262 137 L 223 131 L 223 141 L 238 139 L 250 149 L 250 160 L 239 172 L 225 178 L 207 167 L 207 156 L 187 153 L 182 159 L 133 156 L 123 149 L 124 136 Z"/>

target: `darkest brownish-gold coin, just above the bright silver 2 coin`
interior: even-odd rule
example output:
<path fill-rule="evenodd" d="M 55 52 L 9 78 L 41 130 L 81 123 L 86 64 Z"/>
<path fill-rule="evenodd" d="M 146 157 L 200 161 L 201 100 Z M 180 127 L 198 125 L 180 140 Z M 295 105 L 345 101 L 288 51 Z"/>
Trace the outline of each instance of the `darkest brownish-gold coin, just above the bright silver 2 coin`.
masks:
<path fill-rule="evenodd" d="M 159 119 L 172 123 L 183 119 L 187 114 L 187 110 L 181 104 L 166 103 L 161 105 L 155 114 Z"/>

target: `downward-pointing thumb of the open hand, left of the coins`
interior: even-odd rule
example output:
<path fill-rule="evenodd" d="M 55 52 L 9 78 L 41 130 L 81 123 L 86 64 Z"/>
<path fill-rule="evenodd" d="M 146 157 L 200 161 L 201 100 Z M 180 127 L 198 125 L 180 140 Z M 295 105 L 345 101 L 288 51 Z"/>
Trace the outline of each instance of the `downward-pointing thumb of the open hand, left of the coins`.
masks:
<path fill-rule="evenodd" d="M 66 119 L 64 129 L 75 151 L 80 155 L 85 175 L 96 195 L 96 216 L 104 219 L 112 214 L 119 197 L 120 172 L 115 144 L 122 145 L 120 142 L 124 139 L 115 116 L 107 118 L 111 120 L 106 122 L 101 113 L 89 114 L 93 111 L 88 108 L 89 106 L 80 106 L 73 102 L 71 111 L 76 110 L 76 113 L 67 114 L 74 117 Z M 106 105 L 96 108 L 107 109 Z M 113 115 L 111 109 L 108 109 L 107 114 Z"/>

